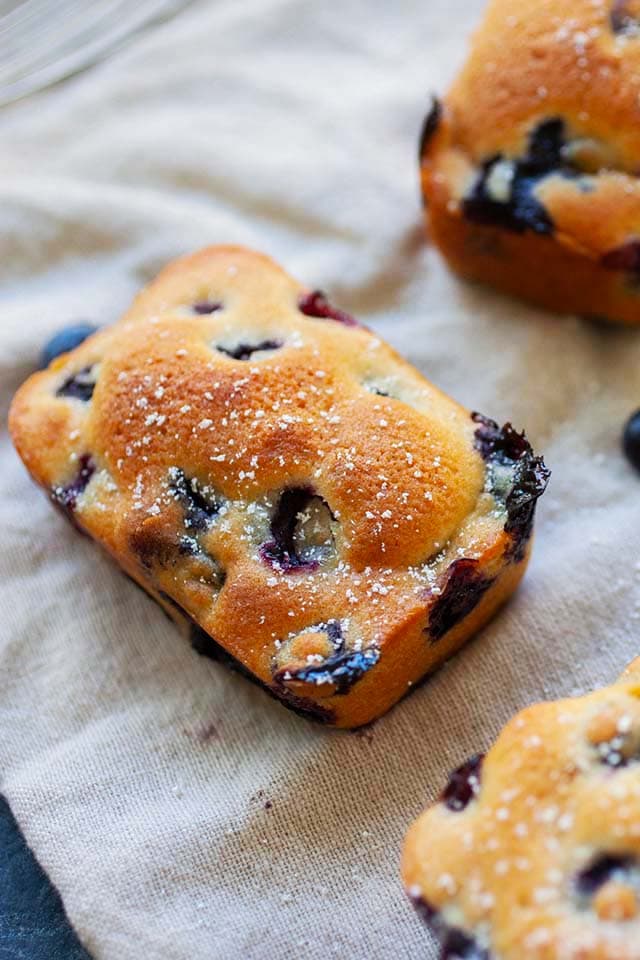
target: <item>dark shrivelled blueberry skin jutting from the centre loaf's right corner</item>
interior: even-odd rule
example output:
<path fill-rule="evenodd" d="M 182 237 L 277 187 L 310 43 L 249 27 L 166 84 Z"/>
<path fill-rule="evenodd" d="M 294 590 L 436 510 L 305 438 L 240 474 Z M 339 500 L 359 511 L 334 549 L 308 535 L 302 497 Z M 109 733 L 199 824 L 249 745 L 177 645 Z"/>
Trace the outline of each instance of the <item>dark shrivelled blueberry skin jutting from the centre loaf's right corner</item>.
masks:
<path fill-rule="evenodd" d="M 512 541 L 509 559 L 519 563 L 533 530 L 536 503 L 547 489 L 551 471 L 542 457 L 534 456 L 525 434 L 518 433 L 510 423 L 499 427 L 495 420 L 480 413 L 472 413 L 471 418 L 479 424 L 475 442 L 482 458 L 487 463 L 513 465 L 513 485 L 505 501 L 504 529 Z"/>

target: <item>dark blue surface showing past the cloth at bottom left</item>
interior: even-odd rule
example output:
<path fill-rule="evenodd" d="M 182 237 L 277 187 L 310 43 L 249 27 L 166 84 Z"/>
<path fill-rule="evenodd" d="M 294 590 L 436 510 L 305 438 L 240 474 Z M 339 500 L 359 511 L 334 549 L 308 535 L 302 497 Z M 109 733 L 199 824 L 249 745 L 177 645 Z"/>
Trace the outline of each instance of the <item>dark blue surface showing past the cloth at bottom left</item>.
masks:
<path fill-rule="evenodd" d="M 0 797 L 0 960 L 91 960 Z"/>

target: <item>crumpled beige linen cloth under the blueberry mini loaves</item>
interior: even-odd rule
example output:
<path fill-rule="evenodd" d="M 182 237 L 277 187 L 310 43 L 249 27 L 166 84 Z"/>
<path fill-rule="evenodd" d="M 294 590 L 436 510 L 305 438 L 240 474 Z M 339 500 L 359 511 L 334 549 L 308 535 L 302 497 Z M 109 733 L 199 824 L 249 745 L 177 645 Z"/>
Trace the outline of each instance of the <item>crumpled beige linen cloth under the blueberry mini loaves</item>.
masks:
<path fill-rule="evenodd" d="M 269 252 L 553 469 L 529 573 L 360 735 L 199 658 L 29 481 L 3 427 L 0 789 L 100 960 L 432 960 L 407 824 L 517 709 L 640 652 L 640 332 L 449 276 L 416 146 L 481 0 L 195 2 L 0 114 L 3 421 L 46 338 L 115 319 L 168 260 Z M 567 283 L 571 277 L 567 277 Z"/>

